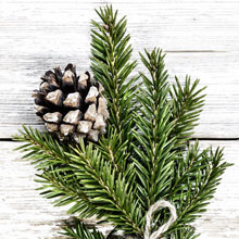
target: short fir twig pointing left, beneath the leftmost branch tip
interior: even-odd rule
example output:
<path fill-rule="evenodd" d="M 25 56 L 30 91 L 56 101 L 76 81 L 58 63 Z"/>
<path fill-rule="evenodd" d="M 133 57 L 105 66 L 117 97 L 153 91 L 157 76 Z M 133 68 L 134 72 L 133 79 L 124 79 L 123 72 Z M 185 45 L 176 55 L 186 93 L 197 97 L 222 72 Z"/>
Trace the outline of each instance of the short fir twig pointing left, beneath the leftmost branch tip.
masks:
<path fill-rule="evenodd" d="M 54 199 L 55 206 L 73 204 L 68 214 L 79 214 L 80 218 L 91 217 L 97 214 L 96 206 L 90 203 L 88 197 L 81 190 L 83 185 L 77 180 L 70 166 L 50 167 L 37 174 L 37 183 L 42 184 L 38 190 L 47 199 Z"/>

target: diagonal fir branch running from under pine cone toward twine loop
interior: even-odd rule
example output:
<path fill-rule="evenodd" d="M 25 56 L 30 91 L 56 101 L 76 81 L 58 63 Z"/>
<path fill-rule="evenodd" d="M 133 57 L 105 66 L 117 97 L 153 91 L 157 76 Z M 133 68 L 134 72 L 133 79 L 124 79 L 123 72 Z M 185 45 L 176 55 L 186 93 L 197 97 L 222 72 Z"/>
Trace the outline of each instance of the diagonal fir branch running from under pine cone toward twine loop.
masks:
<path fill-rule="evenodd" d="M 108 222 L 127 234 L 142 235 L 139 227 L 141 209 L 134 198 L 134 181 L 127 181 L 123 173 L 116 174 L 112 164 L 105 161 L 92 144 L 74 149 L 76 154 L 68 154 L 74 161 L 71 165 L 84 184 L 84 191 L 90 202 Z"/>

